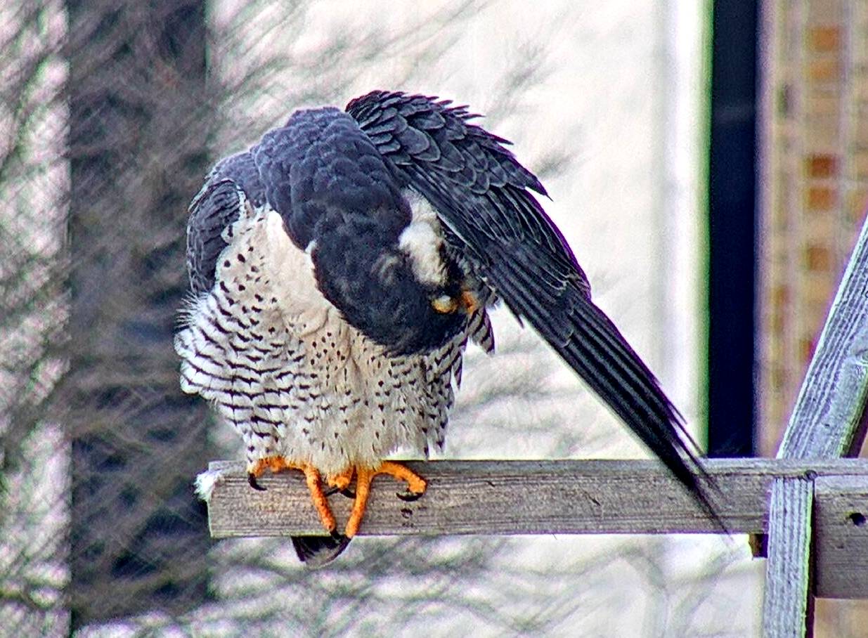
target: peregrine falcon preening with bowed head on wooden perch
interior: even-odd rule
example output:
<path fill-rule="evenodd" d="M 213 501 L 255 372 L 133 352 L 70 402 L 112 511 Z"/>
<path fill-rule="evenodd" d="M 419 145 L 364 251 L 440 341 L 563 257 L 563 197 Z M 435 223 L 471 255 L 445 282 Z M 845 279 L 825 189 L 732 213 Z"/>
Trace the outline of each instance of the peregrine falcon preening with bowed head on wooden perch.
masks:
<path fill-rule="evenodd" d="M 328 532 L 293 538 L 310 565 L 358 532 L 373 477 L 422 496 L 385 459 L 443 446 L 464 347 L 494 350 L 498 301 L 710 509 L 681 416 L 591 301 L 540 181 L 476 117 L 385 91 L 299 110 L 190 205 L 181 388 L 240 433 L 253 489 L 265 470 L 304 472 Z M 342 533 L 325 485 L 354 498 Z"/>

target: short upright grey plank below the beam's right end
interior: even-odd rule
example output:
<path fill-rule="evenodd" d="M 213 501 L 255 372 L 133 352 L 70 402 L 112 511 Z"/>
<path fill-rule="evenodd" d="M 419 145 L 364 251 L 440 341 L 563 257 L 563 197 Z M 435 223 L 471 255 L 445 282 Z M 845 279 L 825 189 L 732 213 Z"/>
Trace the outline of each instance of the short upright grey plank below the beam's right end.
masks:
<path fill-rule="evenodd" d="M 763 635 L 769 638 L 797 638 L 812 627 L 813 488 L 809 477 L 776 478 L 773 483 L 769 518 L 777 527 L 769 538 L 763 601 Z M 773 543 L 775 538 L 792 542 Z"/>

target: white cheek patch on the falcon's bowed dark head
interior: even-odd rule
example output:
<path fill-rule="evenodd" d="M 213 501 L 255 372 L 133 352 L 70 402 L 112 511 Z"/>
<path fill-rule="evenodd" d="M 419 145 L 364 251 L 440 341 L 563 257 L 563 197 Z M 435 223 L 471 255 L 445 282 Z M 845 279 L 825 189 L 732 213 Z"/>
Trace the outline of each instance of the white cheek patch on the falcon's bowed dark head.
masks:
<path fill-rule="evenodd" d="M 410 202 L 412 220 L 398 237 L 398 247 L 410 257 L 416 279 L 432 286 L 444 286 L 446 267 L 440 254 L 443 236 L 440 220 L 431 204 L 418 193 L 404 191 Z"/>

